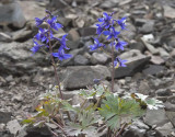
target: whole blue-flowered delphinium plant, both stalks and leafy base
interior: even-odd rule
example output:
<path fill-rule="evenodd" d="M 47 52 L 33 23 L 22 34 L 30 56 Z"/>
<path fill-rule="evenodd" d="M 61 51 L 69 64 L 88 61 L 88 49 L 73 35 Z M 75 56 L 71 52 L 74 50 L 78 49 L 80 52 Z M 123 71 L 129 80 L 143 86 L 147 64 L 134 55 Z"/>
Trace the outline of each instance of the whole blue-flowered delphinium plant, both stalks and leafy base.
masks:
<path fill-rule="evenodd" d="M 98 137 L 102 130 L 106 130 L 107 137 L 119 137 L 124 129 L 132 122 L 133 118 L 141 116 L 147 107 L 158 109 L 162 107 L 162 102 L 149 99 L 142 94 L 125 94 L 120 96 L 114 93 L 114 72 L 115 68 L 126 67 L 126 60 L 119 57 L 114 57 L 114 50 L 124 50 L 127 45 L 118 36 L 120 31 L 126 30 L 126 18 L 121 20 L 113 19 L 113 14 L 103 13 L 103 18 L 98 19 L 101 22 L 96 24 L 97 35 L 107 36 L 106 39 L 112 48 L 112 89 L 109 90 L 101 80 L 94 80 L 96 84 L 88 87 L 88 89 L 79 90 L 79 95 L 82 101 L 79 104 L 72 105 L 69 100 L 63 100 L 59 76 L 57 73 L 57 65 L 54 57 L 59 60 L 71 57 L 65 54 L 66 35 L 62 38 L 54 36 L 54 31 L 62 27 L 57 23 L 57 16 L 52 15 L 46 10 L 46 16 L 43 19 L 36 18 L 36 26 L 38 33 L 34 36 L 34 47 L 31 49 L 33 54 L 39 49 L 50 56 L 50 60 L 55 70 L 57 85 L 49 89 L 45 94 L 39 96 L 39 104 L 36 107 L 36 114 L 28 116 L 23 121 L 23 124 L 34 126 L 48 126 L 54 136 L 62 137 Z M 47 28 L 42 28 L 42 24 L 46 23 Z M 120 31 L 116 31 L 119 25 Z M 91 50 L 104 48 L 107 45 L 100 43 L 94 38 L 95 44 L 91 45 Z M 55 42 L 55 44 L 52 44 Z M 59 43 L 57 53 L 54 53 L 54 47 Z M 57 92 L 59 90 L 59 93 Z M 71 114 L 71 115 L 70 115 Z"/>

